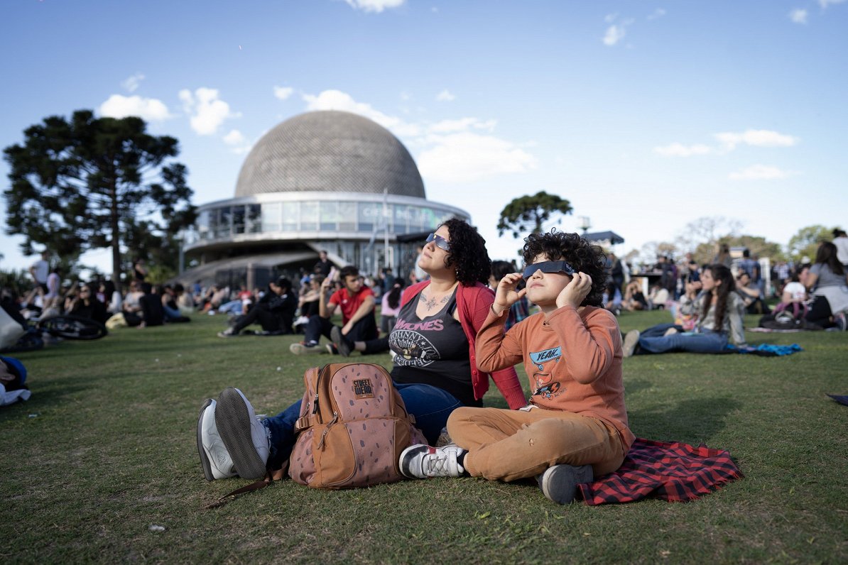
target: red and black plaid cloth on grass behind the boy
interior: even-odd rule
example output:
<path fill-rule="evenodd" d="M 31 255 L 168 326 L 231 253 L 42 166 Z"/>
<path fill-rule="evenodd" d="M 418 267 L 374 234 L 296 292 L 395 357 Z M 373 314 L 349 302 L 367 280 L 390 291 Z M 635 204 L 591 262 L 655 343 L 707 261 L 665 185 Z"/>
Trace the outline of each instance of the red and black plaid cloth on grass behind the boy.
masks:
<path fill-rule="evenodd" d="M 728 451 L 636 438 L 615 473 L 579 486 L 589 505 L 647 496 L 691 501 L 742 477 Z"/>

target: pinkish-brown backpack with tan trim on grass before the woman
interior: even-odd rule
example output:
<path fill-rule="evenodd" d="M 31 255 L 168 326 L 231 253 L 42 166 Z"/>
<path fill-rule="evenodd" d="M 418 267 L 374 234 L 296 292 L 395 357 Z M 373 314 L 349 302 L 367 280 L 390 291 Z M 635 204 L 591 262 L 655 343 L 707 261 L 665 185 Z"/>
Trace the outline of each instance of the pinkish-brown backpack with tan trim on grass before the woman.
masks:
<path fill-rule="evenodd" d="M 288 474 L 322 489 L 403 479 L 401 451 L 427 443 L 380 365 L 330 363 L 304 374 L 306 391 Z"/>

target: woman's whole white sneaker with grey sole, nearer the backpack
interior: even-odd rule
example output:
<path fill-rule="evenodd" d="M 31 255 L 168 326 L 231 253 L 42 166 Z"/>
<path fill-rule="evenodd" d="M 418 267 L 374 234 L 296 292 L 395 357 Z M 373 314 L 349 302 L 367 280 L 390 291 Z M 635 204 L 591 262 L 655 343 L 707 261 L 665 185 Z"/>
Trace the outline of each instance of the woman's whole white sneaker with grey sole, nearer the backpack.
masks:
<path fill-rule="evenodd" d="M 271 454 L 268 429 L 256 418 L 254 407 L 242 391 L 228 387 L 218 396 L 215 425 L 220 440 L 243 479 L 261 479 Z"/>

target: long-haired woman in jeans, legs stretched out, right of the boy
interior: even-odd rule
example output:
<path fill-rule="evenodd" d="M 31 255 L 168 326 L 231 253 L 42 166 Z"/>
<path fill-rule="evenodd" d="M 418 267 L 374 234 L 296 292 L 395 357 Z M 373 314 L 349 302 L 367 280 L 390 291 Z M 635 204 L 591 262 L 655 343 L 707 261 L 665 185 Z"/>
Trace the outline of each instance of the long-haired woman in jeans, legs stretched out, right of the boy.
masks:
<path fill-rule="evenodd" d="M 747 346 L 742 312 L 745 304 L 735 291 L 734 275 L 722 264 L 704 268 L 699 282 L 686 283 L 680 297 L 679 313 L 697 314 L 695 331 L 681 326 L 659 324 L 647 330 L 628 331 L 624 357 L 646 353 L 720 353 L 728 345 L 728 335 L 737 346 Z"/>

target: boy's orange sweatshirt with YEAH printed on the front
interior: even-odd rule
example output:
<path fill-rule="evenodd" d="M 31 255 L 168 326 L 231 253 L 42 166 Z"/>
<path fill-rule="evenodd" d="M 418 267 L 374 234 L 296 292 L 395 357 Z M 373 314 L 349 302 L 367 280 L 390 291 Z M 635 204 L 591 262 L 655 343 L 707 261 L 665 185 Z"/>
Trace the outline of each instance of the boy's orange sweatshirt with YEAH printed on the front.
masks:
<path fill-rule="evenodd" d="M 488 318 L 477 332 L 477 366 L 495 371 L 524 362 L 530 402 L 599 418 L 621 435 L 624 451 L 633 443 L 624 407 L 622 334 L 611 312 L 587 306 L 557 309 L 545 320 L 537 313 L 506 335 L 506 313 Z"/>

